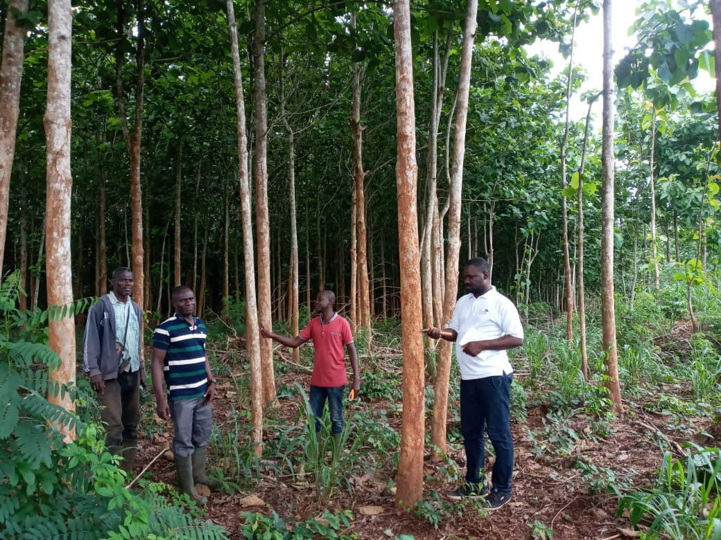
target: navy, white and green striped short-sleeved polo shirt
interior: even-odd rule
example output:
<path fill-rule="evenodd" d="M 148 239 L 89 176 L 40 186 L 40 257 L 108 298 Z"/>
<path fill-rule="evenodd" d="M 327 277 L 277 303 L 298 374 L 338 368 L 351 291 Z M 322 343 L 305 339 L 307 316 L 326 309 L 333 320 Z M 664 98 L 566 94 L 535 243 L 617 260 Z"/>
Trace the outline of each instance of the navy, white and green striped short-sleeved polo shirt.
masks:
<path fill-rule="evenodd" d="M 173 316 L 155 329 L 153 346 L 166 351 L 163 371 L 169 400 L 190 400 L 205 394 L 208 388 L 205 372 L 207 334 L 205 323 L 197 317 L 191 325 L 185 318 Z"/>

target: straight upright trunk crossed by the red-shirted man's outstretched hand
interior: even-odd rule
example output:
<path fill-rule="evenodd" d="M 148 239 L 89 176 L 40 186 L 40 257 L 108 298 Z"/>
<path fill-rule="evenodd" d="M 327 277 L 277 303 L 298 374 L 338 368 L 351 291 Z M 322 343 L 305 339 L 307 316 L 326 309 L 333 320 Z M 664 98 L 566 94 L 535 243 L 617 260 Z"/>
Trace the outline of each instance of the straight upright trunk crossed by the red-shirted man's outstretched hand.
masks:
<path fill-rule="evenodd" d="M 267 93 L 265 89 L 265 4 L 255 0 L 255 35 L 253 36 L 253 102 L 255 106 L 255 226 L 258 246 L 258 317 L 272 326 L 270 290 L 270 217 L 268 214 L 267 173 Z M 252 261 L 252 259 L 246 259 Z M 246 266 L 249 266 L 247 264 Z M 251 327 L 252 330 L 255 328 Z M 268 339 L 260 340 L 263 403 L 275 400 L 273 347 Z"/>

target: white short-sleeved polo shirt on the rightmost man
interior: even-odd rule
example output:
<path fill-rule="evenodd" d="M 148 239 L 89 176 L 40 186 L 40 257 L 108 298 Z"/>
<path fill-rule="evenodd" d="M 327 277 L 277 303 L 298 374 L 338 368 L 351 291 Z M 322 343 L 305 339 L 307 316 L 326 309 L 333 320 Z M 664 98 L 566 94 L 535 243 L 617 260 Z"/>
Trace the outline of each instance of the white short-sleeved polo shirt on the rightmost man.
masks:
<path fill-rule="evenodd" d="M 523 339 L 521 317 L 508 297 L 491 287 L 485 294 L 474 297 L 469 293 L 456 302 L 448 328 L 456 330 L 456 359 L 461 379 L 482 379 L 513 373 L 507 351 L 481 351 L 477 356 L 464 353 L 469 341 L 515 336 Z"/>

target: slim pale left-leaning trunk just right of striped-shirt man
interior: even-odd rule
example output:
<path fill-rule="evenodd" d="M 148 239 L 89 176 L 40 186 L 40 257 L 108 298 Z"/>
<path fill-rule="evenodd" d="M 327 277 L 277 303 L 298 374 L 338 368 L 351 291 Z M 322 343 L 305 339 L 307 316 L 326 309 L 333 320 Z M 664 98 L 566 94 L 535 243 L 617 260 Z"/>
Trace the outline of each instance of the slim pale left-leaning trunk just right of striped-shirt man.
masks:
<path fill-rule="evenodd" d="M 252 423 L 251 441 L 255 445 L 255 454 L 262 455 L 263 441 L 263 381 L 260 361 L 260 333 L 258 332 L 258 311 L 255 297 L 255 268 L 253 261 L 253 226 L 248 174 L 248 138 L 245 132 L 245 103 L 243 99 L 243 80 L 238 51 L 238 27 L 235 22 L 233 0 L 227 0 L 228 24 L 231 36 L 231 53 L 233 55 L 233 87 L 236 103 L 236 135 L 238 138 L 238 176 L 241 203 L 241 219 L 243 228 L 243 256 L 245 264 L 245 305 L 246 333 L 245 346 L 250 361 L 250 418 Z"/>

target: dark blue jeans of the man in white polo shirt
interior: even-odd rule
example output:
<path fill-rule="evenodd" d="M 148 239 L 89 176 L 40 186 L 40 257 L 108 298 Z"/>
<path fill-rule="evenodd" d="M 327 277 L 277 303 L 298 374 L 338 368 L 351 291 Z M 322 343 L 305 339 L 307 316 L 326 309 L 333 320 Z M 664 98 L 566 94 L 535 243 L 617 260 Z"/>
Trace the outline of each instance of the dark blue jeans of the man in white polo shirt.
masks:
<path fill-rule="evenodd" d="M 513 374 L 461 380 L 461 433 L 466 447 L 466 482 L 484 481 L 485 437 L 496 454 L 491 482 L 510 493 L 513 476 L 513 438 L 510 435 L 510 382 Z"/>

